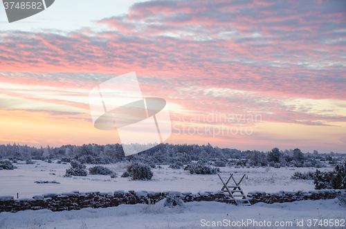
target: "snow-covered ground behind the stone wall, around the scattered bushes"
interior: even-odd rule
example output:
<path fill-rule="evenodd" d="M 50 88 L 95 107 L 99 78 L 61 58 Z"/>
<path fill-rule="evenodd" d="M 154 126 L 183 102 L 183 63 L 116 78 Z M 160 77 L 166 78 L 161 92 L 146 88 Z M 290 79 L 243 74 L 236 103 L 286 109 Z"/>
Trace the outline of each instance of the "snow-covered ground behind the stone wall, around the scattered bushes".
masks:
<path fill-rule="evenodd" d="M 23 162 L 24 163 L 24 162 Z M 16 196 L 19 198 L 31 198 L 37 194 L 49 192 L 61 193 L 78 190 L 80 192 L 113 192 L 115 190 L 146 190 L 146 191 L 179 191 L 179 192 L 204 192 L 217 191 L 221 189 L 221 181 L 217 175 L 196 175 L 184 170 L 172 170 L 167 166 L 162 169 L 152 169 L 154 176 L 152 181 L 130 181 L 129 178 L 120 177 L 125 171 L 125 165 L 104 165 L 118 172 L 117 178 L 102 175 L 64 177 L 66 169 L 70 164 L 46 163 L 36 161 L 36 164 L 15 164 L 16 170 L 0 170 L 0 195 Z M 91 167 L 93 165 L 88 165 Z M 235 168 L 220 167 L 221 177 L 224 181 L 230 173 L 236 173 L 235 179 L 238 181 L 243 174 L 248 179 L 242 181 L 241 187 L 247 194 L 251 191 L 278 192 L 284 191 L 309 191 L 313 190 L 312 181 L 291 180 L 294 172 L 314 172 L 313 168 Z M 332 170 L 322 168 L 319 170 Z M 53 175 L 55 174 L 55 175 Z M 34 183 L 35 181 L 57 181 L 55 183 Z"/>

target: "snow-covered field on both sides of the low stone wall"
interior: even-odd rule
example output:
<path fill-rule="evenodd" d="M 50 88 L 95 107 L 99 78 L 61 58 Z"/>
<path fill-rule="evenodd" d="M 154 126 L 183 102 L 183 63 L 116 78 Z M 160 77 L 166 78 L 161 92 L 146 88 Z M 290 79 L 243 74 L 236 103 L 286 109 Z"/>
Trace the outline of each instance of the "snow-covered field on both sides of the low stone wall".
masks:
<path fill-rule="evenodd" d="M 88 175 L 86 177 L 64 178 L 69 164 L 46 163 L 36 161 L 34 165 L 18 164 L 16 170 L 0 171 L 0 195 L 12 195 L 19 198 L 32 197 L 48 192 L 80 192 L 115 190 L 147 190 L 147 191 L 180 191 L 203 192 L 216 191 L 221 188 L 217 175 L 191 175 L 184 170 L 172 170 L 168 167 L 153 169 L 152 181 L 129 181 L 120 175 L 125 165 L 105 165 L 118 171 L 118 178 L 110 176 Z M 89 165 L 90 166 L 90 165 Z M 331 170 L 322 168 L 319 170 Z M 309 168 L 234 168 L 221 167 L 221 176 L 226 179 L 230 173 L 235 178 L 247 174 L 248 179 L 241 184 L 245 193 L 251 191 L 277 192 L 280 190 L 313 190 L 312 181 L 292 181 L 291 175 L 296 172 L 315 171 Z M 55 174 L 55 175 L 53 175 Z M 55 183 L 34 183 L 34 181 L 57 181 Z M 249 224 L 248 228 L 318 228 L 308 225 L 309 219 L 346 219 L 346 208 L 338 205 L 337 199 L 321 201 L 297 201 L 293 203 L 265 204 L 256 203 L 250 207 L 235 206 L 216 202 L 185 203 L 184 208 L 164 208 L 162 201 L 156 205 L 120 205 L 115 208 L 85 208 L 69 212 L 51 212 L 49 210 L 26 210 L 23 212 L 1 212 L 0 228 L 223 228 L 210 227 L 208 222 L 221 221 L 224 228 L 232 227 L 232 222 L 253 220 L 272 224 L 275 221 L 292 226 L 260 227 Z M 205 221 L 201 221 L 204 219 Z M 296 223 L 303 221 L 304 227 Z M 225 222 L 231 223 L 225 226 Z M 340 221 L 341 222 L 341 221 Z M 312 221 L 313 223 L 313 221 Z M 220 225 L 220 224 L 219 224 Z M 238 223 L 239 225 L 239 223 Z M 246 228 L 246 227 L 244 227 Z M 332 228 L 322 226 L 321 228 Z M 335 227 L 335 228 L 346 228 Z"/>

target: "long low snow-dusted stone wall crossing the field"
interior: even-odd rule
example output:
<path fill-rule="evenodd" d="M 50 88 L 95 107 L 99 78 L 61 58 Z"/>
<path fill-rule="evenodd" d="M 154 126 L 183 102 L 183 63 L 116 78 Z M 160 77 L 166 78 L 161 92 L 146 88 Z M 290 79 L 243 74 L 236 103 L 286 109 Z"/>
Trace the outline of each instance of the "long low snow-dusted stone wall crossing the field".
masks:
<path fill-rule="evenodd" d="M 251 204 L 284 203 L 300 200 L 334 199 L 345 190 L 315 190 L 309 192 L 249 192 Z M 79 210 L 81 208 L 107 208 L 120 204 L 156 203 L 166 197 L 181 199 L 183 202 L 218 201 L 230 203 L 228 196 L 222 191 L 217 192 L 64 192 L 62 194 L 48 193 L 33 196 L 33 198 L 14 199 L 14 196 L 0 196 L 0 212 L 17 212 L 20 210 L 49 209 L 52 211 Z"/>

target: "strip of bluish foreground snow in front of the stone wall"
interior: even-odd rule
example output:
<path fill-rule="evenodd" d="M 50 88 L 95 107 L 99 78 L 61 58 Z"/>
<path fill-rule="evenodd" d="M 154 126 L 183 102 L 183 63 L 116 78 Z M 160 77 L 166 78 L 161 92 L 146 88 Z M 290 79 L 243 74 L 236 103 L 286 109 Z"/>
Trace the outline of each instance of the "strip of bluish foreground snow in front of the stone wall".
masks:
<path fill-rule="evenodd" d="M 210 228 L 202 227 L 201 219 L 292 221 L 295 225 L 297 220 L 304 220 L 306 224 L 307 219 L 345 219 L 346 208 L 338 205 L 337 201 L 256 203 L 252 206 L 202 201 L 185 203 L 184 208 L 165 208 L 163 201 L 160 201 L 155 205 L 119 205 L 113 208 L 83 208 L 64 212 L 25 210 L 16 213 L 1 212 L 0 228 L 39 228 L 39 225 L 40 228 Z"/>

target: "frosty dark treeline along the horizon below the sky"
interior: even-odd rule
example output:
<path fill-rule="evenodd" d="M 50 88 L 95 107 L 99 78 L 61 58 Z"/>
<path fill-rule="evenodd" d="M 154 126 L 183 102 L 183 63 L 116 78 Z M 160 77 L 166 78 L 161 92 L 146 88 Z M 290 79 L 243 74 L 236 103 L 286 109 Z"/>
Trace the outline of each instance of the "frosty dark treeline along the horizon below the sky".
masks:
<path fill-rule="evenodd" d="M 212 145 L 172 145 L 160 144 L 145 152 L 125 157 L 120 144 L 113 145 L 63 145 L 61 147 L 28 147 L 27 145 L 0 145 L 0 159 L 9 160 L 61 160 L 69 163 L 72 160 L 89 164 L 109 164 L 119 161 L 145 163 L 147 165 L 172 165 L 181 167 L 192 162 L 224 167 L 234 165 L 271 166 L 271 167 L 324 167 L 336 165 L 343 161 L 345 154 L 303 154 L 300 149 L 273 148 L 268 152 L 257 150 L 241 151 L 212 147 Z"/>

